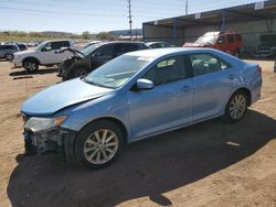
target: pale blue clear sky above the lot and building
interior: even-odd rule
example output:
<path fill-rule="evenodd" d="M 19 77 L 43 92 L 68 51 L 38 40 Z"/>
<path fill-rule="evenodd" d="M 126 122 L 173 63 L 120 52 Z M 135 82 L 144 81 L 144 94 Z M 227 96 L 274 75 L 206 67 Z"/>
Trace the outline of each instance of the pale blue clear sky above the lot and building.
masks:
<path fill-rule="evenodd" d="M 132 29 L 185 14 L 187 0 L 131 0 Z M 258 0 L 188 0 L 188 13 Z M 0 31 L 91 33 L 127 30 L 128 0 L 0 0 Z"/>

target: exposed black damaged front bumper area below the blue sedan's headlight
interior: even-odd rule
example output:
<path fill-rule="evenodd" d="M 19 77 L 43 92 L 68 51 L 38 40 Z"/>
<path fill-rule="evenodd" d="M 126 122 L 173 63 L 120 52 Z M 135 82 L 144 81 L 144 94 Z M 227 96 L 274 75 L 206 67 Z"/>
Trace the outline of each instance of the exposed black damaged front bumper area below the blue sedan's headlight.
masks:
<path fill-rule="evenodd" d="M 75 162 L 75 131 L 54 128 L 42 132 L 24 130 L 24 142 L 26 154 L 43 154 L 46 152 L 63 151 L 70 162 Z"/>

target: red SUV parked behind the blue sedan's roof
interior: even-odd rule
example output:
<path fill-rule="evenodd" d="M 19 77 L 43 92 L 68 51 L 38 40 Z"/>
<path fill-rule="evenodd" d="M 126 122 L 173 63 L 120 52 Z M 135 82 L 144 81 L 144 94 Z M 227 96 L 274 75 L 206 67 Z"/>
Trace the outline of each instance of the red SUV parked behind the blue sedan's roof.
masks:
<path fill-rule="evenodd" d="M 194 43 L 185 43 L 183 47 L 212 47 L 240 57 L 243 40 L 235 32 L 208 32 Z"/>

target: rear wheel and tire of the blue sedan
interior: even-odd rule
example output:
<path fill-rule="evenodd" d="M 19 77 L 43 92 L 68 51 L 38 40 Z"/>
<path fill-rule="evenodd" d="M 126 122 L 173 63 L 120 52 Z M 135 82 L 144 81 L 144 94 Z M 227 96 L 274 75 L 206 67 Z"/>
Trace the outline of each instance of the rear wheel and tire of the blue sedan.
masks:
<path fill-rule="evenodd" d="M 229 122 L 237 122 L 240 121 L 245 112 L 247 111 L 248 107 L 248 96 L 246 92 L 238 90 L 230 98 L 224 118 Z"/>

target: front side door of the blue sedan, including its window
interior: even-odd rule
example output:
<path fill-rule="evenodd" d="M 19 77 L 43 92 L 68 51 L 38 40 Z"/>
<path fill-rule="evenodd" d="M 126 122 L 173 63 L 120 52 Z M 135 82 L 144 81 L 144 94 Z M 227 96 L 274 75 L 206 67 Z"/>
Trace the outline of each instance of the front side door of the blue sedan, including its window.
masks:
<path fill-rule="evenodd" d="M 191 121 L 193 83 L 183 55 L 160 61 L 142 78 L 153 81 L 155 87 L 127 92 L 136 139 Z"/>

